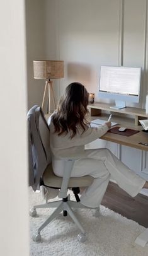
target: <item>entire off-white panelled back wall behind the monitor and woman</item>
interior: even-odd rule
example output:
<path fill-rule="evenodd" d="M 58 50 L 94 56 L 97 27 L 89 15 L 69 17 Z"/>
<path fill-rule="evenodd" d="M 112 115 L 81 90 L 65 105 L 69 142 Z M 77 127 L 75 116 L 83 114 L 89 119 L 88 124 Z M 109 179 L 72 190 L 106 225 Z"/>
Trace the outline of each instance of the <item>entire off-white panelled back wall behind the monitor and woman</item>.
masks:
<path fill-rule="evenodd" d="M 134 106 L 144 107 L 147 0 L 48 0 L 46 17 L 47 57 L 57 57 L 65 64 L 57 98 L 67 84 L 80 81 L 99 101 L 100 66 L 123 64 L 142 67 L 142 100 Z"/>

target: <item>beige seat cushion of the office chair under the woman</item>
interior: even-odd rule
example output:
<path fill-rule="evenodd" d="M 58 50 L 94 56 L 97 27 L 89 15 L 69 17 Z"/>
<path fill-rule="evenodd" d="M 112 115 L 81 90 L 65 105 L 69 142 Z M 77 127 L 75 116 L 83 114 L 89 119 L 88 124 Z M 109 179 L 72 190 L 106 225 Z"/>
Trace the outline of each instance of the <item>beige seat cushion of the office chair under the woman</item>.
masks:
<path fill-rule="evenodd" d="M 94 178 L 86 175 L 78 178 L 69 179 L 69 188 L 72 187 L 88 187 L 93 183 Z M 62 185 L 62 178 L 54 174 L 52 170 L 52 164 L 47 166 L 47 169 L 43 173 L 43 183 L 48 187 L 57 187 L 60 188 Z"/>

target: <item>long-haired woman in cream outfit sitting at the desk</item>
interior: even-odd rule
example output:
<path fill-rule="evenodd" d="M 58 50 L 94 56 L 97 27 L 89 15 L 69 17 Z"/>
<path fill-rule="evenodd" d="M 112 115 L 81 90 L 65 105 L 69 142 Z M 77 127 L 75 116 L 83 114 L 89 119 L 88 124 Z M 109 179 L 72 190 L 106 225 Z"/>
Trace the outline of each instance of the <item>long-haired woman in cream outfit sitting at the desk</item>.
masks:
<path fill-rule="evenodd" d="M 111 122 L 91 127 L 87 120 L 87 107 L 88 91 L 81 83 L 71 83 L 60 98 L 57 110 L 48 120 L 55 175 L 63 176 L 64 160 L 61 158 L 72 156 L 76 161 L 71 177 L 91 175 L 94 178 L 81 195 L 81 204 L 84 206 L 100 206 L 110 176 L 119 187 L 135 197 L 142 188 L 148 188 L 148 182 L 118 160 L 110 150 L 84 150 L 85 144 L 103 136 L 111 127 Z"/>

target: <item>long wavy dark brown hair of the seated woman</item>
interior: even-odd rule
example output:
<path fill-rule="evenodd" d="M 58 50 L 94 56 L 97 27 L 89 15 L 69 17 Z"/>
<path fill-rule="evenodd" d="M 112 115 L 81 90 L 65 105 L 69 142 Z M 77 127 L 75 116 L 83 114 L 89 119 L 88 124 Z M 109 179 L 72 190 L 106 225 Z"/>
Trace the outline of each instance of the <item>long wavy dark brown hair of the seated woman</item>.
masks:
<path fill-rule="evenodd" d="M 55 132 L 58 135 L 70 132 L 70 137 L 77 133 L 77 127 L 83 132 L 88 129 L 88 91 L 81 83 L 71 83 L 65 88 L 64 95 L 60 98 L 57 110 L 52 116 Z M 83 133 L 82 132 L 82 133 Z"/>

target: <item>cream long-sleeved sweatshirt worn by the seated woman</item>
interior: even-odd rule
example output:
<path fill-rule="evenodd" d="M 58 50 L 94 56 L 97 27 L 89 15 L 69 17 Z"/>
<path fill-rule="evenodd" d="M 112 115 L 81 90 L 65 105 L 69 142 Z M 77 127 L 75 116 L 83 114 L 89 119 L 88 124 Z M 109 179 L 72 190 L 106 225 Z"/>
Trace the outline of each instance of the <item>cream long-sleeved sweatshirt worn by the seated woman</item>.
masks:
<path fill-rule="evenodd" d="M 71 133 L 62 134 L 60 136 L 54 132 L 54 124 L 52 116 L 48 119 L 50 127 L 50 148 L 55 158 L 83 157 L 84 145 L 91 143 L 95 139 L 103 136 L 108 131 L 108 126 L 103 124 L 98 127 L 88 127 L 88 130 L 83 132 L 82 129 L 77 130 L 76 136 L 71 139 Z"/>

